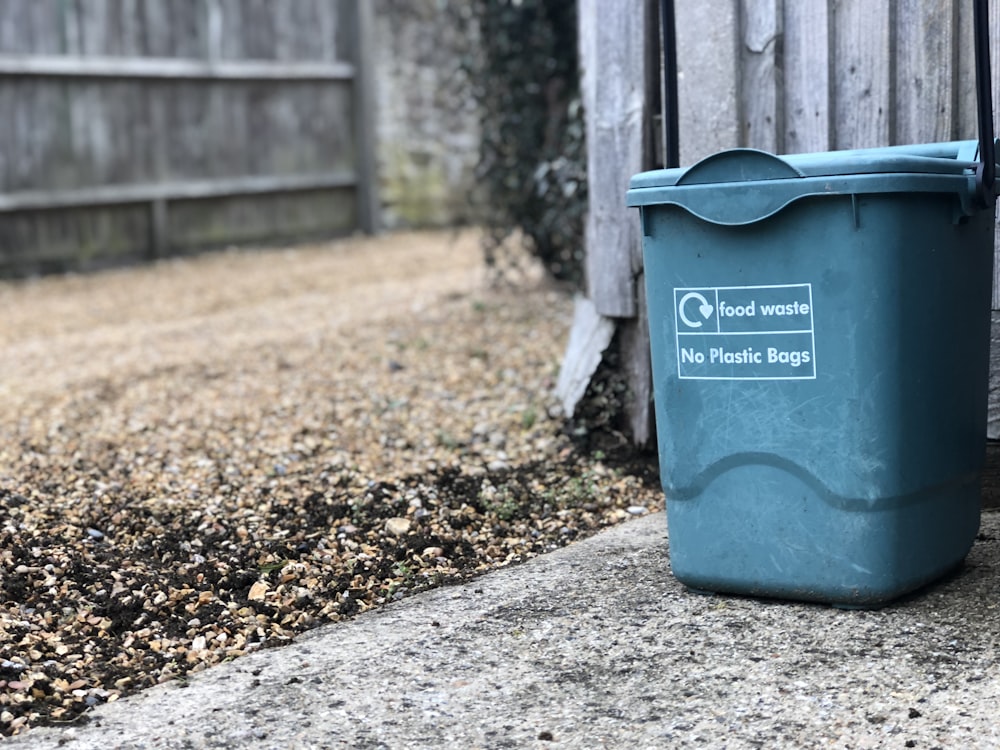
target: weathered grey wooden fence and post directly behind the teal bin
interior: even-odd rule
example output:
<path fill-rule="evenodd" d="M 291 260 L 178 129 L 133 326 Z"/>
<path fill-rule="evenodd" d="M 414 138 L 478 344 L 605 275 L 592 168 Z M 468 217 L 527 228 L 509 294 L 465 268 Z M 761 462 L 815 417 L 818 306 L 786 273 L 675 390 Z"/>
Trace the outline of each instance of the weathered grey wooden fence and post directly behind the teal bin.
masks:
<path fill-rule="evenodd" d="M 650 435 L 651 386 L 639 226 L 623 202 L 630 175 L 659 166 L 658 5 L 580 0 L 589 297 L 597 313 L 617 321 L 631 348 L 626 360 L 638 396 L 631 415 L 638 442 Z M 676 2 L 681 165 L 737 146 L 798 153 L 975 138 L 971 6 L 968 0 Z M 1000 103 L 1000 3 L 990 16 L 993 100 Z M 1000 435 L 1000 387 L 993 403 L 991 434 Z"/>

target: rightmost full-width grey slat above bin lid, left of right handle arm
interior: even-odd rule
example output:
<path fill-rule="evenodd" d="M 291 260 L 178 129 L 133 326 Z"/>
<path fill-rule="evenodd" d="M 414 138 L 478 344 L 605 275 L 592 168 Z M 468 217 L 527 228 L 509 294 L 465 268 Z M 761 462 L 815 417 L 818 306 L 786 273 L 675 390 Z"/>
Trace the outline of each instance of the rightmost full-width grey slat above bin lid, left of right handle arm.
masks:
<path fill-rule="evenodd" d="M 958 8 L 897 0 L 893 108 L 896 143 L 954 140 L 958 110 Z"/>

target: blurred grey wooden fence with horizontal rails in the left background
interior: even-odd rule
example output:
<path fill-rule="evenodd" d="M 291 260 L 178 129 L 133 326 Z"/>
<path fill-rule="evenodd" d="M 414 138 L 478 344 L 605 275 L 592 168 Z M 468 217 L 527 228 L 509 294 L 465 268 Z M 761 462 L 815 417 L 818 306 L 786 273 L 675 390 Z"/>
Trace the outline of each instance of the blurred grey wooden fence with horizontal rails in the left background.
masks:
<path fill-rule="evenodd" d="M 377 222 L 366 0 L 4 0 L 0 273 Z"/>

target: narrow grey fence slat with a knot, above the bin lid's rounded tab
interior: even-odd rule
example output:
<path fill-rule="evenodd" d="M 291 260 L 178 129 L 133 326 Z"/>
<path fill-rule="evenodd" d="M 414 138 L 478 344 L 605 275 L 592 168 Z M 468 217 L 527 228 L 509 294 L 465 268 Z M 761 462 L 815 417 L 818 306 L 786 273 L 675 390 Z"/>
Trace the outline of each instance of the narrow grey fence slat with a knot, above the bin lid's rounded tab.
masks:
<path fill-rule="evenodd" d="M 781 0 L 740 2 L 740 144 L 772 154 L 785 150 L 781 5 Z"/>

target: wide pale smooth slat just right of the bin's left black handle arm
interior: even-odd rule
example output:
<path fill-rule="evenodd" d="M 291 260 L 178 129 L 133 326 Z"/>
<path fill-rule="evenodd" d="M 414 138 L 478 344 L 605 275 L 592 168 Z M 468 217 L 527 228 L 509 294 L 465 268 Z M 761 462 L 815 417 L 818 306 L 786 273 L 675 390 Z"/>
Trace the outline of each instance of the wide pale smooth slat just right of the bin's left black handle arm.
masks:
<path fill-rule="evenodd" d="M 739 4 L 738 0 L 678 2 L 675 14 L 684 166 L 740 143 Z"/>

